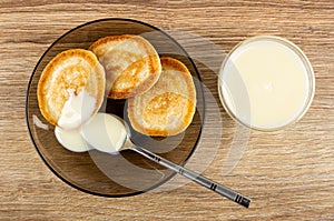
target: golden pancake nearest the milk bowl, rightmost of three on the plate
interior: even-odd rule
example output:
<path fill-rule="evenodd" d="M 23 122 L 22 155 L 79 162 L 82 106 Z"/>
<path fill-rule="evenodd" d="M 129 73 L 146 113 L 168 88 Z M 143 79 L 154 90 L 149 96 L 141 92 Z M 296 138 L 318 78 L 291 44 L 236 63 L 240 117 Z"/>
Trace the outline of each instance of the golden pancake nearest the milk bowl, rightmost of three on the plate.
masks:
<path fill-rule="evenodd" d="M 196 90 L 190 72 L 180 61 L 160 59 L 157 83 L 141 96 L 128 99 L 132 128 L 147 135 L 176 135 L 190 124 L 196 110 Z"/>

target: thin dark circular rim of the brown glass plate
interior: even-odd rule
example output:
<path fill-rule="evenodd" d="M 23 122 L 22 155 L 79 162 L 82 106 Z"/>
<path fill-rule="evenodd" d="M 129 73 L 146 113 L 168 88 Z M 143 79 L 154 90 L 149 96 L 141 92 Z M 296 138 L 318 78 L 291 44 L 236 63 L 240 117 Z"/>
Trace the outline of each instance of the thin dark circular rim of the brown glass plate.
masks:
<path fill-rule="evenodd" d="M 202 83 L 202 78 L 200 78 L 200 74 L 199 74 L 199 71 L 194 62 L 194 60 L 191 59 L 191 57 L 189 56 L 189 53 L 180 46 L 180 43 L 174 39 L 171 36 L 169 36 L 166 31 L 163 31 L 161 29 L 153 26 L 153 24 L 149 24 L 149 23 L 146 23 L 146 22 L 143 22 L 143 21 L 139 21 L 139 20 L 135 20 L 135 19 L 128 19 L 128 18 L 102 18 L 102 19 L 97 19 L 97 20 L 91 20 L 91 21 L 88 21 L 88 22 L 85 22 L 85 23 L 81 23 L 68 31 L 66 31 L 65 33 L 62 33 L 60 37 L 58 37 L 56 39 L 56 41 L 53 41 L 48 48 L 47 50 L 42 53 L 42 56 L 39 58 L 37 64 L 33 68 L 33 71 L 30 76 L 30 79 L 29 79 L 29 82 L 28 82 L 28 87 L 27 87 L 27 90 L 26 90 L 26 104 L 24 104 L 24 115 L 26 115 L 26 123 L 27 123 L 27 127 L 28 127 L 28 132 L 29 132 L 29 137 L 30 137 L 30 140 L 35 147 L 35 149 L 37 150 L 39 157 L 42 159 L 42 161 L 45 162 L 45 164 L 52 171 L 53 174 L 56 174 L 61 181 L 63 181 L 65 183 L 67 183 L 68 185 L 81 191 L 81 192 L 85 192 L 85 193 L 89 193 L 89 194 L 92 194 L 92 195 L 98 195 L 98 197 L 106 197 L 106 198 L 124 198 L 124 197 L 132 197 L 132 195 L 137 195 L 137 194 L 141 194 L 141 193 L 145 193 L 145 192 L 148 192 L 148 191 L 151 191 L 160 185 L 163 185 L 164 183 L 168 182 L 173 177 L 175 177 L 177 173 L 171 171 L 171 173 L 166 177 L 164 180 L 159 181 L 158 183 L 145 189 L 145 190 L 136 190 L 134 192 L 130 192 L 130 193 L 120 193 L 120 194 L 108 194 L 108 193 L 99 193 L 99 192 L 95 192 L 95 191 L 90 191 L 90 190 L 87 190 L 82 187 L 78 187 L 77 184 L 70 182 L 69 180 L 67 180 L 66 178 L 63 178 L 59 172 L 57 172 L 52 167 L 51 164 L 45 159 L 45 157 L 42 155 L 42 153 L 40 152 L 35 139 L 33 139 L 33 135 L 32 135 L 32 132 L 31 132 L 31 128 L 30 128 L 30 124 L 29 124 L 29 115 L 28 115 L 28 112 L 29 112 L 29 107 L 28 107 L 28 102 L 29 102 L 29 93 L 30 93 L 30 87 L 31 87 L 31 83 L 32 83 L 32 79 L 33 79 L 33 76 L 36 73 L 36 70 L 38 68 L 38 66 L 40 64 L 40 62 L 42 61 L 42 59 L 45 58 L 45 56 L 49 52 L 49 50 L 51 50 L 51 48 L 57 44 L 62 38 L 65 38 L 67 34 L 71 33 L 72 31 L 76 31 L 82 27 L 86 27 L 86 26 L 89 26 L 89 24 L 94 24 L 94 23 L 98 23 L 98 22 L 104 22 L 104 21 L 128 21 L 128 22 L 132 22 L 132 23 L 139 23 L 139 24 L 143 24 L 143 26 L 146 26 L 146 27 L 149 27 L 156 31 L 159 31 L 160 33 L 165 34 L 168 39 L 170 39 L 183 52 L 184 54 L 187 57 L 187 59 L 189 60 L 191 67 L 194 68 L 195 70 L 195 73 L 196 73 L 196 77 L 198 78 L 198 81 L 200 82 L 199 83 L 199 88 L 200 88 L 200 92 L 202 92 L 202 100 L 203 100 L 203 112 L 202 112 L 202 115 L 200 115 L 200 129 L 199 129 L 199 134 L 195 141 L 195 145 L 191 148 L 191 150 L 189 151 L 187 158 L 180 163 L 180 165 L 185 165 L 188 160 L 190 159 L 190 157 L 194 154 L 195 150 L 197 149 L 198 147 L 198 143 L 199 143 L 199 140 L 203 135 L 203 128 L 204 128 L 204 124 L 205 124 L 205 118 L 206 118 L 206 113 L 205 113 L 205 110 L 206 110 L 206 102 L 205 102 L 205 90 L 204 90 L 204 87 L 203 87 L 203 83 Z"/>

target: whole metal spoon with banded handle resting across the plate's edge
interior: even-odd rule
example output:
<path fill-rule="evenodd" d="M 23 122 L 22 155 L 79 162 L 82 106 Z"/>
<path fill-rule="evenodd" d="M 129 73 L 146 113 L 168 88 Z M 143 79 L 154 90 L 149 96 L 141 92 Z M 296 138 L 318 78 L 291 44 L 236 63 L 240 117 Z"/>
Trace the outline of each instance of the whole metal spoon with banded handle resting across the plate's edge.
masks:
<path fill-rule="evenodd" d="M 151 161 L 154 161 L 154 162 L 156 162 L 156 163 L 158 163 L 158 164 L 160 164 L 165 168 L 168 168 L 168 169 L 173 170 L 174 172 L 177 172 L 177 173 L 179 173 L 179 174 L 197 182 L 198 184 L 200 184 L 203 187 L 206 187 L 207 189 L 209 189 L 209 190 L 212 190 L 212 191 L 214 191 L 214 192 L 216 192 L 220 195 L 224 195 L 227 199 L 229 199 L 234 202 L 237 202 L 240 205 L 244 205 L 245 208 L 249 207 L 249 204 L 252 202 L 252 200 L 249 198 L 246 198 L 246 197 L 244 197 L 244 195 L 242 195 L 242 194 L 239 194 L 239 193 L 237 193 L 237 192 L 235 192 L 235 191 L 233 191 L 233 190 L 230 190 L 230 189 L 228 189 L 228 188 L 226 188 L 226 187 L 224 187 L 224 185 L 222 185 L 222 184 L 219 184 L 219 183 L 217 183 L 213 180 L 209 180 L 209 179 L 207 179 L 207 178 L 205 178 L 205 177 L 203 177 L 203 175 L 200 175 L 200 174 L 198 174 L 194 171 L 190 171 L 186 168 L 183 168 L 178 164 L 175 164 L 175 163 L 173 163 L 173 162 L 170 162 L 170 161 L 168 161 L 168 160 L 166 160 L 166 159 L 164 159 L 164 158 L 161 158 L 161 157 L 159 157 L 159 155 L 157 155 L 157 154 L 155 154 L 155 153 L 153 153 L 153 152 L 150 152 L 150 151 L 148 151 L 144 148 L 140 148 L 140 147 L 134 144 L 131 142 L 130 130 L 129 130 L 127 123 L 124 121 L 124 119 L 121 119 L 117 115 L 114 115 L 114 114 L 106 114 L 106 115 L 114 117 L 114 118 L 118 119 L 122 123 L 122 125 L 125 127 L 125 130 L 127 131 L 127 134 L 126 135 L 121 135 L 121 134 L 119 135 L 119 138 L 125 138 L 125 141 L 124 141 L 122 145 L 120 145 L 120 148 L 117 149 L 117 150 L 115 148 L 109 149 L 108 147 L 95 147 L 96 149 L 98 149 L 100 151 L 108 152 L 108 153 L 112 153 L 112 154 L 115 154 L 117 152 L 120 152 L 122 150 L 136 151 L 137 153 L 141 154 L 143 157 L 145 157 L 145 158 L 147 158 L 147 159 L 149 159 L 149 160 L 151 160 Z M 94 121 L 94 119 L 92 119 L 92 121 Z M 115 121 L 115 119 L 110 119 L 109 123 L 110 122 L 116 122 L 116 121 Z M 104 124 L 104 122 L 101 122 L 101 123 Z M 117 127 L 119 127 L 120 123 L 116 122 L 115 125 L 116 124 L 117 124 Z M 89 128 L 89 127 L 90 125 L 88 124 L 87 128 Z M 96 124 L 96 127 L 100 127 L 100 125 Z M 112 124 L 109 124 L 108 128 L 111 129 Z M 124 131 L 124 130 L 115 130 L 115 131 Z M 89 139 L 87 139 L 87 135 L 85 135 L 85 129 L 84 129 L 84 135 L 82 137 L 89 143 Z"/>

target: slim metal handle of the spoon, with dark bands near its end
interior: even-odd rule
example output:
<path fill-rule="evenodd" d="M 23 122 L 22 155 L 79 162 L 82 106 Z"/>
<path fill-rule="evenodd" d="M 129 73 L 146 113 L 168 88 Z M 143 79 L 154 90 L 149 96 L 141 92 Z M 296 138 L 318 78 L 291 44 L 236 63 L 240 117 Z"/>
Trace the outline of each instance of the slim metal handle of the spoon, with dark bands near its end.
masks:
<path fill-rule="evenodd" d="M 226 187 L 224 187 L 224 185 L 222 185 L 222 184 L 219 184 L 215 181 L 212 181 L 212 180 L 209 180 L 209 179 L 207 179 L 207 178 L 205 178 L 205 177 L 203 177 L 203 175 L 200 175 L 196 172 L 193 172 L 193 171 L 190 171 L 186 168 L 177 165 L 177 164 L 175 164 L 175 163 L 173 163 L 173 162 L 170 162 L 170 161 L 168 161 L 168 160 L 166 160 L 166 159 L 164 159 L 164 158 L 161 158 L 161 157 L 159 157 L 159 155 L 157 155 L 157 154 L 155 154 L 155 153 L 153 153 L 153 152 L 150 152 L 146 149 L 134 145 L 131 148 L 131 150 L 138 152 L 139 154 L 146 157 L 149 160 L 153 160 L 153 161 L 159 163 L 160 165 L 164 165 L 165 168 L 168 168 L 168 169 L 170 169 L 170 170 L 173 170 L 173 171 L 175 171 L 175 172 L 177 172 L 177 173 L 179 173 L 179 174 L 197 182 L 198 184 L 200 184 L 203 187 L 206 187 L 207 189 L 209 189 L 209 190 L 212 190 L 212 191 L 214 191 L 214 192 L 216 192 L 220 195 L 226 197 L 227 199 L 229 199 L 234 202 L 237 202 L 240 205 L 244 205 L 245 208 L 248 208 L 250 202 L 252 202 L 250 199 L 248 199 L 248 198 L 246 198 L 246 197 L 244 197 L 244 195 L 242 195 L 242 194 L 239 194 L 239 193 L 237 193 L 237 192 L 235 192 L 235 191 L 233 191 L 233 190 L 230 190 L 230 189 L 228 189 L 228 188 L 226 188 Z"/>

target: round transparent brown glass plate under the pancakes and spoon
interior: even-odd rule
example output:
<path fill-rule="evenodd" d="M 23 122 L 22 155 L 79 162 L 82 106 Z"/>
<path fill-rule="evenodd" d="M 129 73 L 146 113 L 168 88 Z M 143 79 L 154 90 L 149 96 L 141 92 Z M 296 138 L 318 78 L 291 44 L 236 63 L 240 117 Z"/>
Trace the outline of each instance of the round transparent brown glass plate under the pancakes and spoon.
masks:
<path fill-rule="evenodd" d="M 196 149 L 204 122 L 204 90 L 198 70 L 183 47 L 166 32 L 136 20 L 104 19 L 85 23 L 61 36 L 40 58 L 28 86 L 26 118 L 29 133 L 41 159 L 56 175 L 73 188 L 104 197 L 128 197 L 147 192 L 168 181 L 175 172 L 130 150 L 116 155 L 96 150 L 82 153 L 66 150 L 55 137 L 55 127 L 39 111 L 37 84 L 43 68 L 59 52 L 73 48 L 88 49 L 99 38 L 125 33 L 143 36 L 160 57 L 168 56 L 184 62 L 194 77 L 197 92 L 196 113 L 184 133 L 150 138 L 131 130 L 134 142 L 183 165 Z M 108 99 L 100 111 L 128 120 L 125 107 L 126 100 Z"/>

